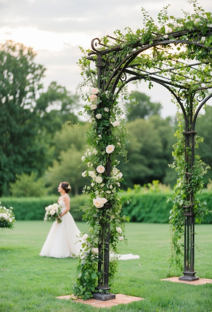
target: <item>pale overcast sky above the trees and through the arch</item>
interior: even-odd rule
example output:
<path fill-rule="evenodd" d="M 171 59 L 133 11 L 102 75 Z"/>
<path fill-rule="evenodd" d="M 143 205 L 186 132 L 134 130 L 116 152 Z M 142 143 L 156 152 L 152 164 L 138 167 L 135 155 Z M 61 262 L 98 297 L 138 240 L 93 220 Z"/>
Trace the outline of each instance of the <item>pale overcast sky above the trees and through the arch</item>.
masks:
<path fill-rule="evenodd" d="M 200 3 L 206 12 L 212 11 L 211 0 Z M 47 69 L 44 86 L 57 81 L 75 93 L 81 82 L 76 65 L 81 58 L 79 46 L 89 49 L 93 38 L 113 36 L 115 30 L 124 32 L 127 26 L 133 31 L 143 28 L 142 7 L 156 22 L 159 11 L 168 4 L 168 14 L 175 17 L 182 17 L 181 9 L 193 11 L 186 0 L 0 0 L 0 42 L 13 40 L 33 47 L 36 62 Z M 142 82 L 138 90 L 163 105 L 163 117 L 175 114 L 165 88 L 154 85 L 149 90 L 148 84 Z"/>

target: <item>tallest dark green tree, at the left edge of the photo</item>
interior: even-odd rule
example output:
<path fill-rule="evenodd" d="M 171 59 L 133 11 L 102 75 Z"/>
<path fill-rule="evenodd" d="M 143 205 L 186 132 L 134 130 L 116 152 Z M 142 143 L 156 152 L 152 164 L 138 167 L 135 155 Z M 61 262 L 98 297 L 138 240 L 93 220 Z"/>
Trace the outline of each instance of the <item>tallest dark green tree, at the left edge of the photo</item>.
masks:
<path fill-rule="evenodd" d="M 8 194 L 8 183 L 14 181 L 15 174 L 41 173 L 48 155 L 34 110 L 45 68 L 34 58 L 32 49 L 22 44 L 8 41 L 0 46 L 1 195 Z"/>

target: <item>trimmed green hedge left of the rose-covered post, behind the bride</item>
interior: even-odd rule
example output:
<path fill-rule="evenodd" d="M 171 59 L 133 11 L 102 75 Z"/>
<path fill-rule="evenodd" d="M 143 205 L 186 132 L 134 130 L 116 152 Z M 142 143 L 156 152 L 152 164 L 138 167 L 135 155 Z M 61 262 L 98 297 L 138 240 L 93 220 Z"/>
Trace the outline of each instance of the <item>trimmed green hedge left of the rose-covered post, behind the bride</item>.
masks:
<path fill-rule="evenodd" d="M 45 197 L 1 197 L 0 202 L 6 208 L 13 207 L 16 220 L 43 220 L 45 207 L 57 202 L 58 196 Z M 71 197 L 71 215 L 76 221 L 82 221 L 83 212 L 73 211 L 84 205 L 86 195 Z"/>

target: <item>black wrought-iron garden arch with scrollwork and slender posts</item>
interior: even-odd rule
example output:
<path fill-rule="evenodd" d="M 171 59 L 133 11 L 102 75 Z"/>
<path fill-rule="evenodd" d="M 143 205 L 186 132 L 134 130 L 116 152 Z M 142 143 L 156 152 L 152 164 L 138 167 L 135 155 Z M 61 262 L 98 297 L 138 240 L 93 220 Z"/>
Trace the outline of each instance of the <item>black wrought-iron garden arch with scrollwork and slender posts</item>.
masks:
<path fill-rule="evenodd" d="M 94 38 L 91 42 L 92 50 L 88 54 L 88 59 L 96 62 L 97 67 L 97 78 L 99 81 L 99 89 L 103 91 L 109 91 L 111 94 L 111 98 L 115 101 L 117 95 L 121 92 L 122 88 L 134 80 L 148 80 L 155 83 L 158 83 L 159 85 L 164 86 L 167 90 L 171 92 L 171 94 L 174 96 L 174 98 L 177 100 L 178 104 L 180 105 L 182 109 L 182 113 L 185 119 L 185 159 L 186 162 L 189 163 L 189 167 L 192 169 L 194 164 L 194 146 L 195 146 L 195 140 L 194 137 L 196 135 L 195 129 L 195 123 L 197 115 L 200 111 L 200 109 L 203 107 L 203 105 L 212 97 L 212 93 L 208 95 L 209 90 L 211 89 L 212 92 L 212 72 L 207 72 L 205 76 L 207 77 L 207 81 L 200 81 L 196 78 L 190 77 L 187 75 L 187 72 L 181 72 L 179 73 L 177 70 L 183 70 L 183 68 L 186 69 L 190 67 L 192 70 L 195 70 L 196 72 L 201 71 L 200 66 L 206 66 L 207 64 L 211 65 L 212 61 L 211 59 L 202 59 L 201 61 L 197 61 L 195 63 L 184 63 L 182 60 L 173 60 L 172 64 L 175 62 L 178 63 L 178 66 L 170 66 L 169 64 L 166 64 L 165 61 L 168 61 L 168 57 L 164 60 L 164 67 L 158 68 L 156 65 L 153 66 L 153 69 L 155 71 L 147 71 L 145 69 L 140 69 L 142 66 L 141 63 L 139 63 L 139 60 L 136 64 L 133 63 L 133 61 L 136 59 L 136 57 L 139 56 L 139 54 L 143 53 L 144 51 L 150 50 L 152 48 L 157 49 L 159 51 L 160 49 L 163 49 L 163 47 L 170 46 L 172 44 L 174 45 L 195 45 L 200 47 L 201 49 L 204 49 L 207 52 L 210 52 L 212 50 L 212 47 L 205 47 L 203 43 L 200 43 L 200 37 L 203 36 L 203 34 L 199 31 L 196 37 L 192 34 L 198 32 L 197 29 L 192 29 L 190 31 L 183 30 L 181 32 L 172 32 L 165 34 L 166 37 L 171 37 L 171 39 L 164 40 L 163 36 L 156 35 L 153 43 L 149 44 L 148 42 L 144 43 L 143 45 L 138 40 L 136 43 L 131 45 L 131 52 L 126 55 L 124 54 L 123 45 L 127 44 L 124 41 L 121 41 L 117 38 L 110 37 L 115 42 L 121 42 L 121 44 L 115 44 L 114 46 L 107 46 L 103 43 L 101 43 L 99 38 Z M 184 40 L 179 39 L 183 35 L 188 34 L 190 39 Z M 207 33 L 204 33 L 204 37 L 211 36 L 212 35 L 212 27 L 208 28 Z M 100 49 L 97 48 L 97 46 L 100 45 Z M 102 48 L 104 47 L 104 48 Z M 169 52 L 166 51 L 168 54 Z M 172 54 L 172 53 L 171 53 Z M 92 55 L 97 56 L 96 59 L 92 57 Z M 173 54 L 174 55 L 174 54 Z M 188 59 L 188 58 L 187 58 Z M 137 61 L 137 60 L 136 60 Z M 211 66 L 212 68 L 212 66 Z M 182 80 L 179 82 L 178 80 L 174 79 L 173 77 L 167 77 L 163 75 L 163 73 L 171 73 L 172 75 L 179 75 L 182 76 Z M 107 77 L 107 79 L 106 79 Z M 183 82 L 183 80 L 185 82 Z M 119 84 L 119 85 L 118 85 Z M 207 96 L 203 91 L 206 91 Z M 202 92 L 203 98 L 200 100 L 198 99 L 198 92 Z M 184 99 L 182 98 L 181 94 L 183 95 Z M 198 102 L 201 101 L 199 105 L 197 105 L 196 112 L 193 114 L 193 101 L 194 98 L 197 98 Z M 206 96 L 206 97 L 205 97 Z M 185 104 L 182 103 L 185 101 L 186 105 L 189 102 L 190 104 L 190 110 L 185 109 Z M 187 148 L 191 147 L 191 157 L 187 154 Z M 110 160 L 108 160 L 107 167 L 107 174 L 110 176 Z M 186 181 L 189 180 L 190 176 L 185 170 L 185 177 Z M 183 206 L 184 208 L 184 215 L 185 215 L 185 236 L 184 236 L 184 271 L 183 276 L 179 277 L 181 280 L 197 280 L 199 279 L 198 276 L 195 276 L 196 271 L 194 271 L 194 223 L 195 223 L 195 213 L 193 211 L 193 191 L 191 190 L 191 197 L 187 198 L 187 201 L 190 201 L 191 204 L 189 206 Z M 108 225 L 106 225 L 107 227 Z M 102 236 L 100 233 L 100 241 L 102 241 Z M 107 246 L 109 246 L 109 236 L 105 239 L 105 243 Z M 101 257 L 101 246 L 102 243 L 99 244 L 99 266 L 98 268 L 101 268 L 101 263 L 108 263 L 108 257 L 109 254 L 104 255 L 104 259 Z M 109 250 L 108 250 L 109 253 Z M 98 269 L 100 270 L 100 269 Z M 109 270 L 109 263 L 108 267 L 105 268 L 104 272 L 101 272 L 99 275 L 108 275 Z M 108 278 L 106 278 L 108 283 Z M 108 290 L 110 289 L 108 287 L 108 284 L 105 284 L 102 282 L 102 280 L 99 280 L 99 285 L 97 289 L 102 290 Z M 96 297 L 97 298 L 97 297 Z M 107 300 L 107 299 L 105 299 Z"/>

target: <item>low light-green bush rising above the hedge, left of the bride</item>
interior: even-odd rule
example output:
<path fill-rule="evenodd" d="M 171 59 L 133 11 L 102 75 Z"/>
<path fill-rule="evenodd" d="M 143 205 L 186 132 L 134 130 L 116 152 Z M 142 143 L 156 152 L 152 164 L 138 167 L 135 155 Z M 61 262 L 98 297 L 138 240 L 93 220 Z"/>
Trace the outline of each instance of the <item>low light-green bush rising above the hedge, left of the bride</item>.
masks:
<path fill-rule="evenodd" d="M 9 184 L 10 192 L 15 197 L 43 197 L 47 194 L 44 178 L 37 178 L 37 174 L 16 174 L 16 182 Z"/>

